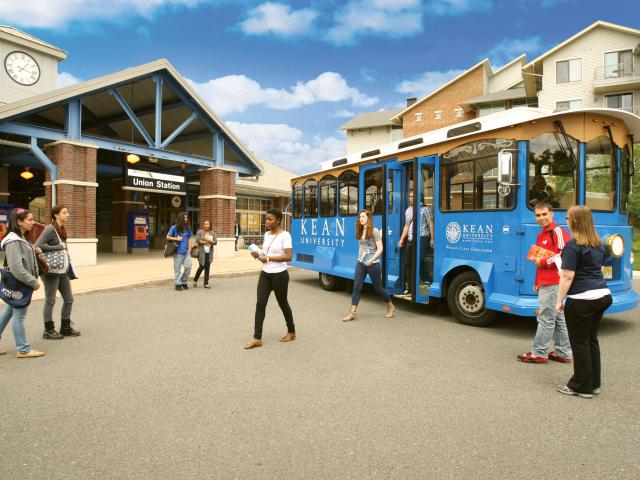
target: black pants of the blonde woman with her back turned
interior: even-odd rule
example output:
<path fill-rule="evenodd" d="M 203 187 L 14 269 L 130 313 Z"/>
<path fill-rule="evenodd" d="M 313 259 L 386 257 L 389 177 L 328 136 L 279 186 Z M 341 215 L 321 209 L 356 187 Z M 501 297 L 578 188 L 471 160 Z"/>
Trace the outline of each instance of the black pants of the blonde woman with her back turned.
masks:
<path fill-rule="evenodd" d="M 604 311 L 612 301 L 611 295 L 596 300 L 567 298 L 564 318 L 573 351 L 573 376 L 567 387 L 574 392 L 593 393 L 594 388 L 600 388 L 598 328 Z"/>

